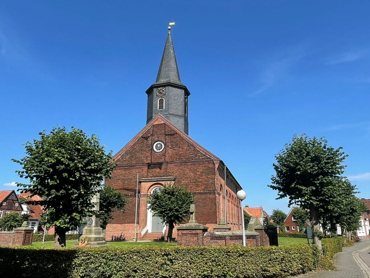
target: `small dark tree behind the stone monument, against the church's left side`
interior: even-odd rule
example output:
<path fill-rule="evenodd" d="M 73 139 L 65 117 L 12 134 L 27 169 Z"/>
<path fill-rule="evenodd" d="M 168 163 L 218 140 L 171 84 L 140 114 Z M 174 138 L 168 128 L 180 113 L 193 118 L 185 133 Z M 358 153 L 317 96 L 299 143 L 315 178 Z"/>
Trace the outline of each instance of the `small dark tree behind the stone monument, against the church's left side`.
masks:
<path fill-rule="evenodd" d="M 113 219 L 113 211 L 125 211 L 127 197 L 111 186 L 104 186 L 100 191 L 100 227 L 105 230 L 110 219 Z"/>

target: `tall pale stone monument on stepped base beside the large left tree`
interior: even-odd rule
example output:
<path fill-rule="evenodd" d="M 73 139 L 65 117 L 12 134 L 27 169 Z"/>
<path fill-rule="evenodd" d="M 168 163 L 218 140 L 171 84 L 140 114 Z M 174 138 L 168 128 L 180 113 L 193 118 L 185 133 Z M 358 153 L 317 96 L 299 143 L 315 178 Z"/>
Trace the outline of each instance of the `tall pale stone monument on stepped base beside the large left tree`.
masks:
<path fill-rule="evenodd" d="M 91 202 L 94 203 L 94 208 L 92 209 L 92 216 L 89 216 L 86 221 L 86 226 L 82 230 L 82 235 L 80 236 L 80 241 L 83 238 L 87 239 L 87 247 L 102 247 L 108 246 L 105 238 L 102 234 L 103 229 L 100 228 L 100 218 L 98 217 L 99 212 L 99 199 L 100 195 L 97 193 Z M 77 245 L 79 242 L 77 242 Z"/>

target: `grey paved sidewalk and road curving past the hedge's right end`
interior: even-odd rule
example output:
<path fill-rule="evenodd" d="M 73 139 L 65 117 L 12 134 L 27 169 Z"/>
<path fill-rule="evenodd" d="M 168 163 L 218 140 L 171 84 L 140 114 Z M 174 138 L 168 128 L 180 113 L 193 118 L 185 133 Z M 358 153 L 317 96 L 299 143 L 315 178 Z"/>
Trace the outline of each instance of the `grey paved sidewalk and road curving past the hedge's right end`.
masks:
<path fill-rule="evenodd" d="M 335 265 L 337 270 L 319 271 L 305 277 L 370 278 L 370 239 L 364 239 L 352 247 L 344 247 L 343 252 L 336 255 Z"/>

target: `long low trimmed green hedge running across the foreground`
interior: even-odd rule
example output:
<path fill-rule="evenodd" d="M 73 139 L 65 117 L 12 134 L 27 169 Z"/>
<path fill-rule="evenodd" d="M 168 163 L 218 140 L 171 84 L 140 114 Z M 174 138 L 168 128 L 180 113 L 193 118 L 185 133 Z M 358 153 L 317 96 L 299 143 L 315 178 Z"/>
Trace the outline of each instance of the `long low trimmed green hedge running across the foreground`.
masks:
<path fill-rule="evenodd" d="M 269 247 L 137 246 L 132 248 L 0 248 L 7 277 L 253 277 L 298 275 L 316 268 L 309 245 Z"/>

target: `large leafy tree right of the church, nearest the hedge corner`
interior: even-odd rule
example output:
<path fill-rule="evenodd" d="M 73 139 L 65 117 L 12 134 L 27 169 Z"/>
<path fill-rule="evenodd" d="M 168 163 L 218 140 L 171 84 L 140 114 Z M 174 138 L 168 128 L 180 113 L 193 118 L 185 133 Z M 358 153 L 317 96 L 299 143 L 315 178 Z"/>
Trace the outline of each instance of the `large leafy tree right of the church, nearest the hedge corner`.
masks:
<path fill-rule="evenodd" d="M 273 185 L 269 187 L 279 191 L 277 199 L 289 197 L 289 206 L 295 203 L 309 210 L 313 243 L 320 251 L 320 214 L 328 210 L 333 200 L 343 196 L 340 190 L 335 190 L 346 167 L 342 163 L 347 155 L 341 149 L 327 146 L 323 138 L 295 135 L 275 156 L 273 164 L 276 175 L 271 177 Z"/>

